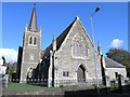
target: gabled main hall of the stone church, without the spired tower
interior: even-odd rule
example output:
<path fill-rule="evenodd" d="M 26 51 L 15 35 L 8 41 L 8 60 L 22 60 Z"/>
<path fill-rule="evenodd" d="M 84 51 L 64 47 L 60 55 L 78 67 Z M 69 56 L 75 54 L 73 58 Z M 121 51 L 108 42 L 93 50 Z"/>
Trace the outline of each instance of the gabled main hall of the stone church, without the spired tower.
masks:
<path fill-rule="evenodd" d="M 93 53 L 94 52 L 94 53 Z M 94 60 L 95 55 L 95 60 Z M 44 51 L 41 73 L 48 73 L 49 86 L 69 85 L 78 82 L 95 81 L 95 64 L 99 81 L 102 79 L 100 55 L 87 34 L 79 17 L 57 37 Z M 44 74 L 43 74 L 44 75 Z M 65 82 L 64 82 L 65 83 Z"/>

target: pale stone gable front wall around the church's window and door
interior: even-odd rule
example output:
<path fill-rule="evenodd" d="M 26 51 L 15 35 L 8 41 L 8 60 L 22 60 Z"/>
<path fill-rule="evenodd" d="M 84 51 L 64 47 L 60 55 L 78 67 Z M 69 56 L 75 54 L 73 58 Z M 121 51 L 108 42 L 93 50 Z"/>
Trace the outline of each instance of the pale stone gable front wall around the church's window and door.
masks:
<path fill-rule="evenodd" d="M 81 34 L 87 44 L 88 44 L 88 56 L 87 57 L 73 57 L 72 55 L 72 40 L 76 33 Z M 95 64 L 94 64 L 94 53 L 95 53 L 95 64 L 98 68 L 98 78 L 102 79 L 101 77 L 101 63 L 100 57 L 98 56 L 96 51 L 93 47 L 93 44 L 86 33 L 83 26 L 81 25 L 80 20 L 77 19 L 68 32 L 67 37 L 65 38 L 64 42 L 62 43 L 60 50 L 56 52 L 56 64 L 55 64 L 55 79 L 56 80 L 77 80 L 77 70 L 80 65 L 83 66 L 86 69 L 86 81 L 88 79 L 95 79 Z M 63 71 L 68 71 L 69 77 L 63 77 Z"/>

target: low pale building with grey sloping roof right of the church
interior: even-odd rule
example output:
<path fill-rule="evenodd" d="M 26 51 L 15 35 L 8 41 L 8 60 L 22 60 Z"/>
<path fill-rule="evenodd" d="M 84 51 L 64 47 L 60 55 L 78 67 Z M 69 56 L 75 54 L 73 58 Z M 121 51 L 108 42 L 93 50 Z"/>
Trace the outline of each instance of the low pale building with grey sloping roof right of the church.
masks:
<path fill-rule="evenodd" d="M 121 75 L 121 80 L 123 82 L 127 78 L 127 70 L 123 65 L 105 56 L 102 56 L 102 61 L 107 85 L 110 81 L 118 81 L 119 74 Z"/>

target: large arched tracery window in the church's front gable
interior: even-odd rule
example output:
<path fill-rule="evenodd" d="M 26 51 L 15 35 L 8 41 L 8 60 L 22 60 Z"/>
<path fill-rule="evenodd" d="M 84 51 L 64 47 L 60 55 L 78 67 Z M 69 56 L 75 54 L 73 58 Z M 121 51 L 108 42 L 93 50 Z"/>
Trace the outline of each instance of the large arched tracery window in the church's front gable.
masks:
<path fill-rule="evenodd" d="M 77 58 L 88 56 L 88 44 L 84 37 L 80 33 L 76 33 L 72 40 L 72 55 Z"/>

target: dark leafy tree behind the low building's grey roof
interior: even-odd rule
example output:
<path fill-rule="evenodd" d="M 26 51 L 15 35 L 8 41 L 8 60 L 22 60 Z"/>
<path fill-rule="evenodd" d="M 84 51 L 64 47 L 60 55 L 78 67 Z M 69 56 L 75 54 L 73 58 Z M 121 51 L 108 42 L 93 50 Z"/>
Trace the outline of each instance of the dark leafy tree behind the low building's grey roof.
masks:
<path fill-rule="evenodd" d="M 125 50 L 110 48 L 106 55 L 115 61 L 126 66 L 127 77 L 130 78 L 130 52 Z"/>

